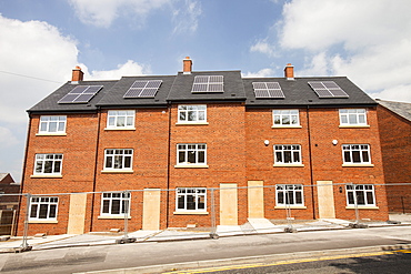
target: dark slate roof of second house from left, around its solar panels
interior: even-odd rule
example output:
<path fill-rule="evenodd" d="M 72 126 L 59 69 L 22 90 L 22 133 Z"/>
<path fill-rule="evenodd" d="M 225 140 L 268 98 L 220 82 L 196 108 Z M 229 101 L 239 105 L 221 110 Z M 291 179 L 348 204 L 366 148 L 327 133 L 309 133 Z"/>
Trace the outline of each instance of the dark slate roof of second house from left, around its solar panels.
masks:
<path fill-rule="evenodd" d="M 166 105 L 167 97 L 174 82 L 174 75 L 144 75 L 121 78 L 98 103 L 100 106 L 156 106 Z M 123 98 L 134 81 L 162 80 L 154 98 Z"/>

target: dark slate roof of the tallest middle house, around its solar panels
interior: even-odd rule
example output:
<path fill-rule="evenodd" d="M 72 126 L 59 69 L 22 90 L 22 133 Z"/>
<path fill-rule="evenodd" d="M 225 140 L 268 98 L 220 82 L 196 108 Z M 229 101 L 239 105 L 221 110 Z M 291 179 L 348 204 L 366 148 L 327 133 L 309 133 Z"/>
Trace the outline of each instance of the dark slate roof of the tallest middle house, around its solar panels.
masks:
<path fill-rule="evenodd" d="M 222 75 L 224 92 L 192 93 L 192 83 L 197 75 Z M 168 100 L 183 101 L 244 101 L 245 92 L 240 71 L 202 71 L 184 74 L 179 72 L 171 88 Z"/>

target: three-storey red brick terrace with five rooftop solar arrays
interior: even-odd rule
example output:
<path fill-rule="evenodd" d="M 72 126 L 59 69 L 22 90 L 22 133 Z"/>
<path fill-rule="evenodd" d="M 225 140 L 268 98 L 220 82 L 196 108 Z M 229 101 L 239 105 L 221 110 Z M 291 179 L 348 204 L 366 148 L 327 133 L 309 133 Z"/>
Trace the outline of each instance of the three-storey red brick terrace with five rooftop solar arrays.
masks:
<path fill-rule="evenodd" d="M 284 78 L 250 79 L 192 71 L 189 58 L 177 75 L 118 81 L 84 81 L 76 68 L 28 112 L 31 234 L 107 231 L 124 215 L 129 230 L 285 209 L 353 220 L 355 203 L 388 220 L 377 102 L 343 77 L 294 78 L 288 64 Z"/>

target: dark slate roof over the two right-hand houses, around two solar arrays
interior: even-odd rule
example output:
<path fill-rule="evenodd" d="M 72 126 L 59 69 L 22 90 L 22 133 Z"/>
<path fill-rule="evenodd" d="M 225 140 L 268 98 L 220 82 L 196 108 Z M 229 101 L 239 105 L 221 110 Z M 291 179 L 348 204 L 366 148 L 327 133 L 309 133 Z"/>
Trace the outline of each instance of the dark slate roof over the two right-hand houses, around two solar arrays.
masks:
<path fill-rule="evenodd" d="M 349 98 L 319 98 L 308 82 L 334 81 Z M 281 85 L 284 99 L 255 99 L 252 82 L 278 82 Z M 247 93 L 248 106 L 324 106 L 324 105 L 377 105 L 360 88 L 353 84 L 345 77 L 323 77 L 323 78 L 244 78 L 244 90 Z"/>

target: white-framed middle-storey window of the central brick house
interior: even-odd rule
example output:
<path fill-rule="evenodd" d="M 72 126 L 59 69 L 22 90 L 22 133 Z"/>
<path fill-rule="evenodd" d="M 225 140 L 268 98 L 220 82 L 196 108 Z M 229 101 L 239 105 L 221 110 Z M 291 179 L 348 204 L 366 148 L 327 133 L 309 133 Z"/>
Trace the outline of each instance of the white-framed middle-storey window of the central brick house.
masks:
<path fill-rule="evenodd" d="M 207 145 L 206 144 L 178 144 L 177 145 L 178 164 L 206 164 Z"/>

